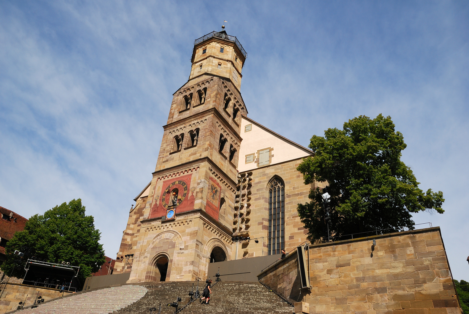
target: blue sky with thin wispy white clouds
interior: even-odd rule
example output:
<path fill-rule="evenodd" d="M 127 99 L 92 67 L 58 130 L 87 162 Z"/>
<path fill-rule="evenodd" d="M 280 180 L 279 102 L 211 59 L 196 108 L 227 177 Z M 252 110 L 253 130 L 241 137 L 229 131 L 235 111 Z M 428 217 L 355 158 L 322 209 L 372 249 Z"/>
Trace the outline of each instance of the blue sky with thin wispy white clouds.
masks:
<path fill-rule="evenodd" d="M 402 160 L 444 193 L 455 279 L 469 280 L 469 2 L 0 1 L 0 206 L 24 217 L 73 198 L 115 257 L 151 180 L 194 39 L 248 52 L 249 117 L 307 146 L 359 115 L 390 115 Z"/>

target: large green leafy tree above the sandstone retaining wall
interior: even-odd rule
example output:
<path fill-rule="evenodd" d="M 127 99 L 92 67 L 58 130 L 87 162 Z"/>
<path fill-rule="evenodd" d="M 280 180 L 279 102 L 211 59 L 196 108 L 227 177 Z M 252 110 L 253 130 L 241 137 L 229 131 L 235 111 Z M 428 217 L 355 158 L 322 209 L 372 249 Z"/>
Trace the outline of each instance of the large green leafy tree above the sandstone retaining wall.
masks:
<path fill-rule="evenodd" d="M 372 120 L 359 116 L 345 122 L 343 130 L 329 128 L 324 137 L 311 137 L 309 147 L 315 156 L 304 158 L 297 170 L 305 184 L 329 183 L 331 235 L 401 231 L 402 226 L 414 224 L 411 213 L 444 212 L 443 193 L 431 189 L 424 193 L 412 170 L 401 161 L 406 146 L 391 117 L 381 114 Z M 319 188 L 311 189 L 311 202 L 298 204 L 310 240 L 326 235 L 321 193 Z"/>

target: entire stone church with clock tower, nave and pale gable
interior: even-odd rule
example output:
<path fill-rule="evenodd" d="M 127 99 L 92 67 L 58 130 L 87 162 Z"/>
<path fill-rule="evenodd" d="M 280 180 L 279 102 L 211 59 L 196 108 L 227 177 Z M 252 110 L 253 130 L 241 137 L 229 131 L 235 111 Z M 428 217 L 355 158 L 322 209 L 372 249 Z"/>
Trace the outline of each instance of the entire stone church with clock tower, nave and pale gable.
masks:
<path fill-rule="evenodd" d="M 195 40 L 155 172 L 123 232 L 115 271 L 131 272 L 129 282 L 204 279 L 209 262 L 280 254 L 305 241 L 296 206 L 309 201 L 311 186 L 296 167 L 314 153 L 248 118 L 246 57 L 225 31 Z"/>

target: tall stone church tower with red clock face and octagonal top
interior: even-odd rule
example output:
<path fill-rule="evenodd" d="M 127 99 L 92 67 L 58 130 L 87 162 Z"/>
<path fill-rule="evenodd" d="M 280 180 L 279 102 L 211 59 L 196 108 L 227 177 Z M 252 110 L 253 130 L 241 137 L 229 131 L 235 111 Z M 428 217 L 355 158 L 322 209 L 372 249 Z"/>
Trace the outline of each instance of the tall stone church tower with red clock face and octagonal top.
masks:
<path fill-rule="evenodd" d="M 155 172 L 123 232 L 115 270 L 130 272 L 129 282 L 204 278 L 211 260 L 231 256 L 246 56 L 225 31 L 195 40 Z"/>

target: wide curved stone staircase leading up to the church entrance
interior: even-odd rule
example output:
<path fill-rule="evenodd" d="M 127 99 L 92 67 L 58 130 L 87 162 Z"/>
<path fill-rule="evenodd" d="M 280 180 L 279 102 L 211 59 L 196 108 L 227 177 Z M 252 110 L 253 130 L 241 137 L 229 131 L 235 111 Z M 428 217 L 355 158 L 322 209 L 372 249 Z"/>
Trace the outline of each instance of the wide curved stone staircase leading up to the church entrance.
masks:
<path fill-rule="evenodd" d="M 173 314 L 174 307 L 168 303 L 182 298 L 180 307 L 189 302 L 189 291 L 194 282 L 159 282 L 124 284 L 121 286 L 88 290 L 68 297 L 50 300 L 36 308 L 25 308 L 17 314 Z M 195 282 L 195 287 L 197 282 Z M 194 290 L 195 290 L 194 287 Z M 199 291 L 204 290 L 199 282 Z M 210 304 L 201 305 L 199 300 L 182 310 L 181 314 L 292 314 L 294 308 L 256 282 L 219 282 L 212 288 Z"/>

